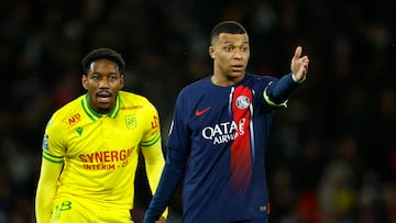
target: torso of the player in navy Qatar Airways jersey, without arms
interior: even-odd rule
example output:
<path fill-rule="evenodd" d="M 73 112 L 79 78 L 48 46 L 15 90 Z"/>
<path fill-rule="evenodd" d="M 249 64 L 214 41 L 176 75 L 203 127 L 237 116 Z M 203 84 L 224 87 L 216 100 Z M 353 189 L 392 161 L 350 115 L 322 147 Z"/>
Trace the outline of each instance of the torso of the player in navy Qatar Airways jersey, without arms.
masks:
<path fill-rule="evenodd" d="M 232 87 L 209 85 L 200 90 L 202 93 L 197 94 L 197 98 L 189 100 L 194 103 L 187 105 L 186 114 L 191 133 L 184 193 L 185 199 L 190 201 L 187 204 L 190 207 L 185 207 L 186 211 L 196 212 L 194 209 L 199 209 L 201 214 L 205 210 L 210 210 L 210 213 L 230 215 L 231 210 L 246 211 L 249 207 L 260 210 L 260 207 L 265 205 L 262 161 L 265 148 L 263 141 L 257 141 L 257 134 L 266 137 L 265 122 L 272 119 L 273 111 L 264 103 L 264 87 L 265 81 L 257 82 L 253 79 Z M 241 155 L 242 148 L 248 155 Z M 255 175 L 253 177 L 262 180 L 254 185 L 262 192 L 255 194 L 256 200 L 253 202 L 248 199 L 252 196 L 251 192 L 254 193 L 254 188 L 252 190 L 250 185 L 252 178 L 239 178 L 239 174 L 233 172 L 243 172 L 244 167 L 242 170 L 237 169 L 245 164 L 250 165 L 246 168 Z M 254 169 L 260 171 L 255 172 Z M 215 203 L 224 205 L 211 207 Z"/>

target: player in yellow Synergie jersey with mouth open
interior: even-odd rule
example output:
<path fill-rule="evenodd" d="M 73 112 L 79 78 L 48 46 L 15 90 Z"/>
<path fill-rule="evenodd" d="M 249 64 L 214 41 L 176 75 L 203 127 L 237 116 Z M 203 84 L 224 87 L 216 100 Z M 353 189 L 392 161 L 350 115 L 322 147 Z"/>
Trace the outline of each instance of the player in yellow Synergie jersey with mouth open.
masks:
<path fill-rule="evenodd" d="M 152 192 L 165 164 L 158 113 L 146 98 L 121 91 L 125 63 L 117 52 L 97 48 L 81 64 L 87 93 L 56 111 L 45 129 L 36 220 L 133 222 L 140 150 Z"/>

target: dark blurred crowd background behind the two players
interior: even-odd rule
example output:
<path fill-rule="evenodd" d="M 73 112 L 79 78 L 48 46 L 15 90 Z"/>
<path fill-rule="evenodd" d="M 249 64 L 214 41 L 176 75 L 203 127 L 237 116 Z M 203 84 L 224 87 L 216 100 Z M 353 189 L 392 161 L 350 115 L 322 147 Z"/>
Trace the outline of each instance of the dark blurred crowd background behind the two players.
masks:
<path fill-rule="evenodd" d="M 308 79 L 274 116 L 270 222 L 396 222 L 395 10 L 394 0 L 2 0 L 0 223 L 34 222 L 44 127 L 84 93 L 89 51 L 123 55 L 124 89 L 157 107 L 165 142 L 178 91 L 211 74 L 221 20 L 248 29 L 251 73 L 289 73 L 296 45 L 310 57 Z M 150 200 L 139 169 L 138 223 Z M 170 223 L 180 207 L 177 192 Z"/>

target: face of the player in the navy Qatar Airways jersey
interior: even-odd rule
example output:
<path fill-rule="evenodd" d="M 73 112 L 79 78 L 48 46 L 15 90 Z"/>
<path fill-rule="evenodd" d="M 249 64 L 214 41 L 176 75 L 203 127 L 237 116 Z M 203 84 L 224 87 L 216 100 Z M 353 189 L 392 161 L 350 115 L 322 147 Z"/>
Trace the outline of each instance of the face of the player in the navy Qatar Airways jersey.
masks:
<path fill-rule="evenodd" d="M 215 75 L 243 78 L 250 57 L 249 37 L 246 34 L 220 33 L 209 53 L 215 62 Z"/>

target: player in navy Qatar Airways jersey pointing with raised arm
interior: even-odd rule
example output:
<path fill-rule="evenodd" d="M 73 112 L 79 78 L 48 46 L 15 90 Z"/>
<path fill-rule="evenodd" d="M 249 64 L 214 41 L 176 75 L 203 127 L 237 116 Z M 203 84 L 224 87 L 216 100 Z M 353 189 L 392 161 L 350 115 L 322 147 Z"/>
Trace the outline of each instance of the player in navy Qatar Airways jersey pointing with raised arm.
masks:
<path fill-rule="evenodd" d="M 213 74 L 176 100 L 167 157 L 144 223 L 161 216 L 182 179 L 183 222 L 267 222 L 265 152 L 273 113 L 306 79 L 308 56 L 297 46 L 280 79 L 245 71 L 245 29 L 223 21 L 211 32 Z"/>

